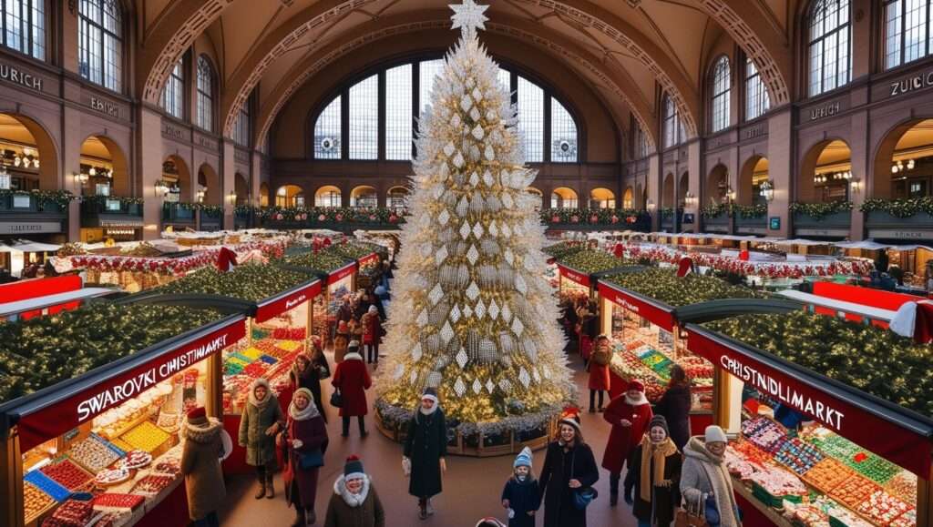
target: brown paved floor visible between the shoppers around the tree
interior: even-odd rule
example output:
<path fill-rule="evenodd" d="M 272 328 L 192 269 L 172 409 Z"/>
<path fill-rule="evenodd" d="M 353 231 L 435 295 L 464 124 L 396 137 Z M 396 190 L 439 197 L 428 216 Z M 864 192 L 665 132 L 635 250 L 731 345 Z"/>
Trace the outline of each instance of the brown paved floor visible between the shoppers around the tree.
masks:
<path fill-rule="evenodd" d="M 330 356 L 332 361 L 333 357 Z M 573 368 L 580 389 L 580 400 L 589 393 L 586 388 L 586 373 L 583 371 L 578 355 L 572 355 Z M 329 398 L 329 383 L 325 387 Z M 582 407 L 582 405 L 581 405 Z M 506 520 L 504 510 L 499 505 L 502 486 L 511 473 L 514 458 L 467 458 L 451 456 L 447 462 L 447 474 L 444 478 L 444 492 L 434 499 L 437 513 L 427 519 L 418 520 L 415 499 L 408 494 L 408 479 L 401 469 L 401 446 L 383 437 L 371 424 L 369 417 L 369 437 L 360 439 L 355 423 L 348 438 L 342 438 L 340 418 L 336 411 L 328 412 L 330 423 L 327 432 L 330 446 L 327 449 L 325 466 L 321 469 L 321 481 L 317 492 L 317 525 L 324 524 L 327 501 L 333 492 L 333 482 L 343 470 L 343 461 L 350 454 L 359 455 L 366 472 L 373 479 L 373 485 L 383 502 L 386 511 L 387 527 L 474 527 L 483 516 L 498 515 Z M 606 447 L 609 425 L 602 419 L 602 414 L 584 413 L 583 434 L 592 445 L 596 463 L 602 461 Z M 535 452 L 535 468 L 540 470 L 544 463 L 544 451 Z M 290 525 L 294 519 L 293 509 L 285 505 L 282 497 L 282 478 L 275 478 L 276 491 L 279 495 L 273 500 L 256 500 L 253 494 L 257 490 L 255 478 L 236 477 L 227 482 L 228 507 L 221 511 L 221 524 L 225 527 L 278 527 Z M 601 470 L 600 480 L 596 484 L 600 497 L 592 503 L 589 510 L 591 527 L 629 527 L 634 526 L 631 509 L 620 501 L 620 505 L 609 507 L 609 477 Z M 538 514 L 543 514 L 542 507 Z M 538 518 L 537 525 L 543 525 Z"/>

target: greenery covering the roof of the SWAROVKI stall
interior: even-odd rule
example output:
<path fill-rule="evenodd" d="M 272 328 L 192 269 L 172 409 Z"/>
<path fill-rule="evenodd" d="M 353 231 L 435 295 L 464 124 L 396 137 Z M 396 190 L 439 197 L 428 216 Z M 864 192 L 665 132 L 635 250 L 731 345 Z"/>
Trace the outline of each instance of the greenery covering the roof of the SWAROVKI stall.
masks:
<path fill-rule="evenodd" d="M 220 316 L 190 307 L 96 302 L 0 324 L 0 402 L 75 378 Z"/>

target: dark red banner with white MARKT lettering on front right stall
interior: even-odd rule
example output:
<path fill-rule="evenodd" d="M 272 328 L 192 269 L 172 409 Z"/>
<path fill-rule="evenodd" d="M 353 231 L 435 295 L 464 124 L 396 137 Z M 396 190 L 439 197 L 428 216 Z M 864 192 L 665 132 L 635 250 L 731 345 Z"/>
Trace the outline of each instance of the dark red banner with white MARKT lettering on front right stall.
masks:
<path fill-rule="evenodd" d="M 761 362 L 748 350 L 736 349 L 689 332 L 689 350 L 734 377 L 799 410 L 862 448 L 910 470 L 920 478 L 930 474 L 930 439 L 898 426 L 856 403 L 824 391 L 816 380 Z M 884 410 L 883 410 L 884 411 Z"/>

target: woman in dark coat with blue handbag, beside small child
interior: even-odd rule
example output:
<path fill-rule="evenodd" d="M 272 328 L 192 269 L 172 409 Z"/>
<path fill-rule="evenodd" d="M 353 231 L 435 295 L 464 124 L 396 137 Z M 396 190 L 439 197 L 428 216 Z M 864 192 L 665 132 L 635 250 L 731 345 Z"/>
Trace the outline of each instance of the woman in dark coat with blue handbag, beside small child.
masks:
<path fill-rule="evenodd" d="M 586 527 L 586 509 L 577 508 L 575 494 L 597 480 L 599 468 L 590 446 L 583 442 L 578 413 L 565 413 L 538 479 L 544 495 L 544 527 Z"/>

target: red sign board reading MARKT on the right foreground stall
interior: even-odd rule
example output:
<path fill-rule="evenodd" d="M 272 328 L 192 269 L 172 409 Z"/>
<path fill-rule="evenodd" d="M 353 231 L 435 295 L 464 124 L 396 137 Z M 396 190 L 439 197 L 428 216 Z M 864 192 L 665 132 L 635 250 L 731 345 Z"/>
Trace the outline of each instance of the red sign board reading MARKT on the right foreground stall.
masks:
<path fill-rule="evenodd" d="M 933 428 L 830 383 L 803 368 L 747 348 L 700 326 L 688 325 L 688 348 L 732 376 L 797 409 L 833 432 L 920 478 L 928 479 Z"/>

